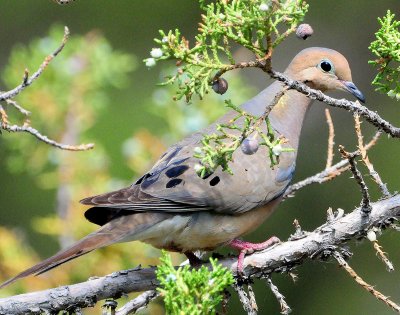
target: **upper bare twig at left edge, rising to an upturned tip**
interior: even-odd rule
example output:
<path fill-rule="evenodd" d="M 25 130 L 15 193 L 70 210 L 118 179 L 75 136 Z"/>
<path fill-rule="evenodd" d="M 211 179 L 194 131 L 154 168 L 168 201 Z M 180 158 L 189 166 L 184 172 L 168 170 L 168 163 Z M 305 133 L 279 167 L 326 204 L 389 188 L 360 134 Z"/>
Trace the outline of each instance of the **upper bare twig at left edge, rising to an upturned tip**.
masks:
<path fill-rule="evenodd" d="M 65 26 L 64 27 L 64 37 L 62 39 L 61 45 L 52 54 L 50 54 L 49 56 L 47 56 L 44 59 L 43 63 L 40 65 L 39 69 L 34 74 L 32 74 L 30 77 L 29 77 L 28 70 L 25 70 L 22 83 L 8 92 L 1 93 L 0 94 L 0 102 L 8 100 L 10 98 L 14 98 L 16 95 L 21 93 L 25 88 L 30 86 L 42 74 L 43 70 L 46 69 L 46 67 L 54 59 L 54 57 L 56 57 L 63 50 L 65 44 L 68 41 L 68 37 L 69 37 L 69 29 L 68 29 L 68 27 Z"/>

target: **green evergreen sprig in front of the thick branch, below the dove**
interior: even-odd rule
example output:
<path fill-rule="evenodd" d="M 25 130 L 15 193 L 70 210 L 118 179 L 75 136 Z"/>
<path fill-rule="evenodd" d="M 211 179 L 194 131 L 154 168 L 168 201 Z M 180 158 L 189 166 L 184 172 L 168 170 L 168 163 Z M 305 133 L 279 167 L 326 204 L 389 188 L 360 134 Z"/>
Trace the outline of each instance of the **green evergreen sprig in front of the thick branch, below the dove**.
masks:
<path fill-rule="evenodd" d="M 216 314 L 224 290 L 233 284 L 233 275 L 210 258 L 211 270 L 202 266 L 190 270 L 189 265 L 175 269 L 171 257 L 163 251 L 156 275 L 167 314 Z"/>

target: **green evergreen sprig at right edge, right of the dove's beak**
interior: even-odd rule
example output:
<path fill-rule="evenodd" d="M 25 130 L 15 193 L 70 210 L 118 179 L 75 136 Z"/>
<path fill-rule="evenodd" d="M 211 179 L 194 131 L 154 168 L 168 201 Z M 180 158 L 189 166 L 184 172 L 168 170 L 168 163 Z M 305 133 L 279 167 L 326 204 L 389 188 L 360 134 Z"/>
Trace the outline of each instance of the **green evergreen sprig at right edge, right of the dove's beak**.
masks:
<path fill-rule="evenodd" d="M 400 100 L 400 21 L 395 19 L 390 10 L 378 21 L 381 28 L 375 33 L 376 40 L 369 46 L 378 57 L 369 61 L 378 69 L 372 84 L 377 91 Z"/>

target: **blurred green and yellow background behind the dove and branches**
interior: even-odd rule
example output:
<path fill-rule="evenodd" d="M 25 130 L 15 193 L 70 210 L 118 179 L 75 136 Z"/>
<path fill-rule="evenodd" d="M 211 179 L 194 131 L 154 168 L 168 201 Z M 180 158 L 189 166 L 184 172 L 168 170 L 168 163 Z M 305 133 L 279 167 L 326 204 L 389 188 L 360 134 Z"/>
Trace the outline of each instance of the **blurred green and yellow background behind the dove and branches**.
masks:
<path fill-rule="evenodd" d="M 353 81 L 367 97 L 367 106 L 393 124 L 400 125 L 399 105 L 374 92 L 374 69 L 368 50 L 378 29 L 376 18 L 387 9 L 397 15 L 397 0 L 310 0 L 306 22 L 314 36 L 302 41 L 288 38 L 276 51 L 273 66 L 284 70 L 291 58 L 309 46 L 334 48 L 349 60 Z M 209 95 L 190 106 L 174 103 L 171 88 L 160 88 L 168 65 L 148 70 L 142 59 L 154 46 L 158 30 L 182 30 L 193 39 L 200 10 L 195 0 L 76 0 L 60 6 L 51 0 L 2 0 L 0 3 L 1 90 L 14 87 L 23 70 L 32 72 L 43 57 L 57 47 L 63 25 L 71 30 L 65 51 L 43 76 L 17 100 L 32 112 L 32 126 L 49 137 L 68 143 L 95 142 L 89 152 L 61 152 L 26 134 L 0 135 L 0 280 L 15 275 L 61 246 L 95 229 L 85 222 L 78 201 L 91 194 L 127 185 L 141 175 L 163 150 L 185 134 L 200 129 L 224 111 L 223 98 Z M 237 54 L 246 56 L 245 52 Z M 270 83 L 257 70 L 228 77 L 226 98 L 236 103 Z M 343 97 L 342 94 L 334 94 Z M 348 97 L 348 95 L 346 95 Z M 320 171 L 325 165 L 327 126 L 325 105 L 315 103 L 302 133 L 295 181 Z M 351 114 L 332 109 L 336 143 L 355 148 Z M 8 108 L 10 121 L 23 117 Z M 365 135 L 373 128 L 363 124 Z M 383 137 L 370 158 L 390 190 L 400 187 L 397 140 Z M 338 156 L 336 154 L 336 159 Z M 379 194 L 369 181 L 375 199 Z M 271 235 L 286 239 L 292 222 L 313 230 L 326 218 L 328 207 L 350 211 L 359 204 L 354 181 L 345 174 L 324 185 L 303 189 L 284 202 L 267 222 L 247 239 L 261 241 Z M 380 238 L 384 250 L 400 265 L 400 235 L 387 231 Z M 350 264 L 365 280 L 400 301 L 400 274 L 388 273 L 368 241 L 352 242 Z M 0 292 L 0 296 L 83 281 L 139 263 L 157 264 L 159 251 L 140 243 L 120 244 L 79 258 L 38 278 L 28 278 Z M 176 263 L 183 259 L 173 256 Z M 298 280 L 274 275 L 294 314 L 391 314 L 335 262 L 307 262 L 296 271 Z M 279 306 L 264 282 L 256 282 L 260 314 L 277 314 Z M 126 299 L 121 300 L 126 301 Z M 237 298 L 230 313 L 240 314 Z M 98 314 L 99 310 L 87 310 Z M 162 303 L 143 313 L 162 314 Z"/>

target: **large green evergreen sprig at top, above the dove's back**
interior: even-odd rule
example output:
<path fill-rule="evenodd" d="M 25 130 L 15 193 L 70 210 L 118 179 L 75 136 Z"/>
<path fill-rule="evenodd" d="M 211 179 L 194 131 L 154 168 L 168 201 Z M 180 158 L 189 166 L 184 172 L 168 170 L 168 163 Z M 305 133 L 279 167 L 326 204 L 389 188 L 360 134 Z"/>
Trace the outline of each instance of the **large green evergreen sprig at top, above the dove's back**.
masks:
<path fill-rule="evenodd" d="M 206 4 L 199 0 L 202 21 L 194 45 L 175 31 L 160 31 L 160 46 L 145 59 L 148 66 L 159 60 L 176 60 L 175 74 L 163 84 L 177 83 L 176 99 L 193 95 L 200 99 L 209 92 L 216 73 L 225 72 L 236 64 L 232 46 L 250 50 L 258 60 L 270 60 L 272 50 L 304 18 L 308 5 L 303 0 L 216 0 Z"/>

